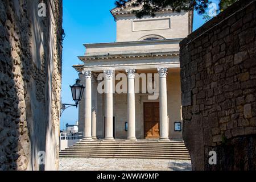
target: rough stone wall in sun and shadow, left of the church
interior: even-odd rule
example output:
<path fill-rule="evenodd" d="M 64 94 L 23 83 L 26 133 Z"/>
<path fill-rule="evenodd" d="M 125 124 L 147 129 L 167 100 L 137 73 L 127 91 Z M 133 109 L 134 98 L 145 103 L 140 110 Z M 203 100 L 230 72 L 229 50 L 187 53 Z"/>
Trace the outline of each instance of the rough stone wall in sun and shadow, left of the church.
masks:
<path fill-rule="evenodd" d="M 61 30 L 61 0 L 0 1 L 0 171 L 59 167 Z"/>

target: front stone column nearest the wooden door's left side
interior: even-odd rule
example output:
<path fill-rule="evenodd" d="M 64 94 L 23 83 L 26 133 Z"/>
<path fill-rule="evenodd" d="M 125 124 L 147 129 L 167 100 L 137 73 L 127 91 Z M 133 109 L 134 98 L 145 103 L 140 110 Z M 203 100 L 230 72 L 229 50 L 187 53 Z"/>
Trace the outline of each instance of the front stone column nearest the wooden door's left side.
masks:
<path fill-rule="evenodd" d="M 128 119 L 128 140 L 137 140 L 136 139 L 136 129 L 135 129 L 135 69 L 126 70 L 128 76 L 128 110 L 127 110 L 127 119 Z"/>

